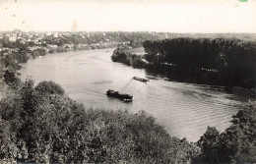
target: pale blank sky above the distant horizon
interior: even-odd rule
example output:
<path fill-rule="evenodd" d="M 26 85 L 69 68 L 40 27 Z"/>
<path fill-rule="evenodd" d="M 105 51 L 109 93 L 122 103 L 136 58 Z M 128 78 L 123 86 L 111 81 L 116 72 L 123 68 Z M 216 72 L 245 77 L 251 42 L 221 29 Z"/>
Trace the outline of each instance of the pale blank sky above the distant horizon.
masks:
<path fill-rule="evenodd" d="M 256 0 L 0 0 L 0 31 L 256 33 Z"/>

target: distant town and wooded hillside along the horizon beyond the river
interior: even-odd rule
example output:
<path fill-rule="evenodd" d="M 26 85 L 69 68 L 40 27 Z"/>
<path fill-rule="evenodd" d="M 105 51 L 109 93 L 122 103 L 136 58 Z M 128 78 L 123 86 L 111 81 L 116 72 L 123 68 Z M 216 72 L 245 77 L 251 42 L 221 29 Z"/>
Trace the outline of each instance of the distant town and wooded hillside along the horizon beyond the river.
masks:
<path fill-rule="evenodd" d="M 71 50 L 89 50 L 117 47 L 142 47 L 145 40 L 156 40 L 176 37 L 230 37 L 244 40 L 255 40 L 255 33 L 168 33 L 168 32 L 125 32 L 125 31 L 47 31 L 24 32 L 19 29 L 0 32 L 0 52 L 2 55 L 18 53 L 19 48 L 30 51 L 40 49 L 45 53 L 65 52 Z M 17 46 L 18 45 L 18 46 Z M 20 46 L 19 46 L 20 45 Z"/>

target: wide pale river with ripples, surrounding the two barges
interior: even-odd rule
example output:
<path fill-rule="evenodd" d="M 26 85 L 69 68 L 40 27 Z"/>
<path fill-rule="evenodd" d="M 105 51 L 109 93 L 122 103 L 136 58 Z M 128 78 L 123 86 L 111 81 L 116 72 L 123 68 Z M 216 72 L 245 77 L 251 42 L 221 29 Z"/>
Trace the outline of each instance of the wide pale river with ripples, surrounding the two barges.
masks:
<path fill-rule="evenodd" d="M 113 49 L 48 54 L 22 65 L 21 79 L 59 83 L 66 93 L 86 107 L 147 111 L 172 137 L 198 140 L 208 126 L 223 132 L 241 104 L 224 88 L 169 82 L 110 59 Z M 151 79 L 138 82 L 133 77 Z M 132 103 L 109 98 L 108 88 L 131 93 Z"/>

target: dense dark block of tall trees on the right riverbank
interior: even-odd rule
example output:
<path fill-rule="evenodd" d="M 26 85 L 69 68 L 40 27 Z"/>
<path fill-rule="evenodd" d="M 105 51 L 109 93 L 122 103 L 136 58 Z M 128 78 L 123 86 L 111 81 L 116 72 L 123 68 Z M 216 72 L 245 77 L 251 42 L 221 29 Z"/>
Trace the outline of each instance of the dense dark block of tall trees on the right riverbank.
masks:
<path fill-rule="evenodd" d="M 143 46 L 146 60 L 156 69 L 167 67 L 170 75 L 206 77 L 226 86 L 256 86 L 255 41 L 174 38 L 147 40 Z"/>

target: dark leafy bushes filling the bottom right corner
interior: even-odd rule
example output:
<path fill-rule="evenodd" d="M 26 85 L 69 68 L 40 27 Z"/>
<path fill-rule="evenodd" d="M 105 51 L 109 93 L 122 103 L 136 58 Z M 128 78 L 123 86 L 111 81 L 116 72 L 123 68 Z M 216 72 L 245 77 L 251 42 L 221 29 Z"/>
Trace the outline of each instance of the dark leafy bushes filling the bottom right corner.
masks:
<path fill-rule="evenodd" d="M 233 116 L 232 125 L 221 135 L 208 128 L 197 144 L 202 154 L 194 159 L 200 163 L 256 162 L 256 104 L 244 106 Z"/>

